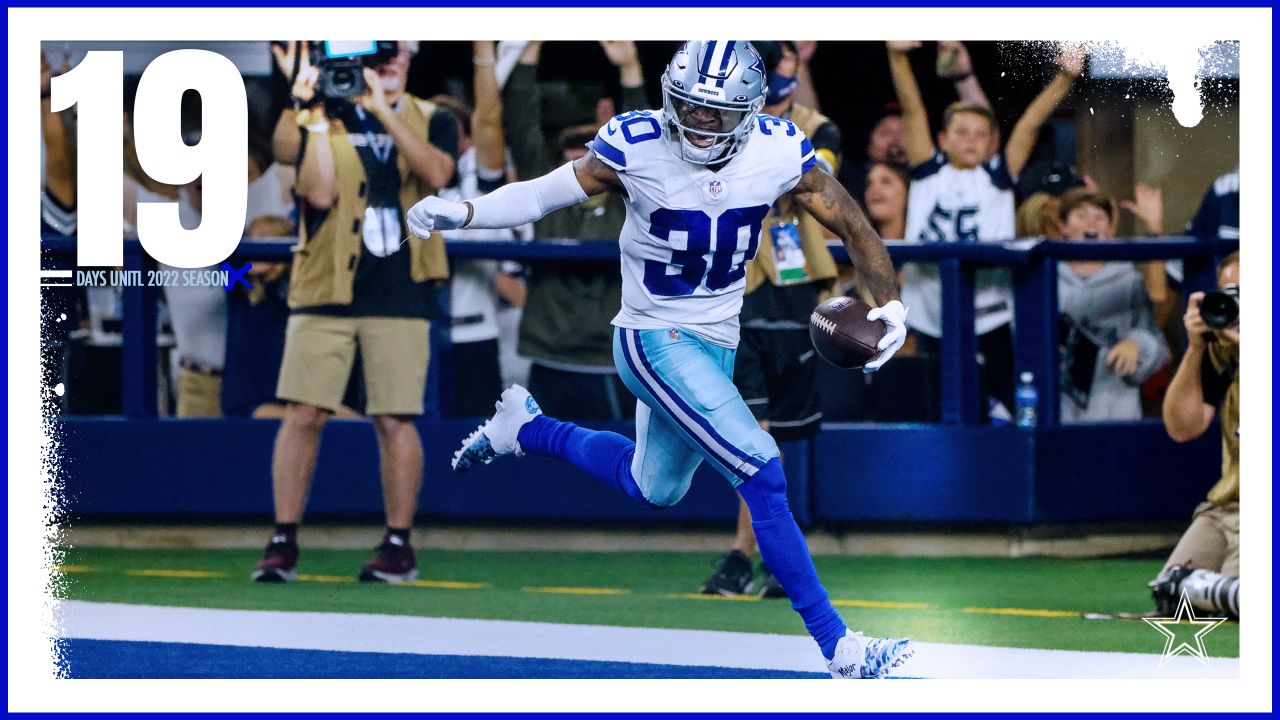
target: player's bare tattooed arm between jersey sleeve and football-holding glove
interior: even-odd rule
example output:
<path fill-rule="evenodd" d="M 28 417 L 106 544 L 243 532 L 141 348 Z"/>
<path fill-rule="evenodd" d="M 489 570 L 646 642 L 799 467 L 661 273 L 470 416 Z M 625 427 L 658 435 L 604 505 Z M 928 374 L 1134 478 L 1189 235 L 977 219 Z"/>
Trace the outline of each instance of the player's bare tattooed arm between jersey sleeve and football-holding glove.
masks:
<path fill-rule="evenodd" d="M 814 167 L 800 177 L 791 195 L 815 220 L 845 242 L 854 268 L 878 305 L 897 300 L 897 275 L 888 250 L 845 186 Z"/>

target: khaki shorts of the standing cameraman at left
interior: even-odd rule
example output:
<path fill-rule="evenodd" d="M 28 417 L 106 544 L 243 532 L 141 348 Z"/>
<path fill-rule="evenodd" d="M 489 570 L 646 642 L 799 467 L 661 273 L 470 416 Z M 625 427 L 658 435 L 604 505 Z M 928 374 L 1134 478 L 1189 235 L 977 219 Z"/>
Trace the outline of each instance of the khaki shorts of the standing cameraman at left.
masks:
<path fill-rule="evenodd" d="M 426 320 L 289 315 L 284 361 L 275 395 L 280 400 L 338 410 L 356 360 L 365 366 L 367 415 L 421 415 L 430 359 Z"/>

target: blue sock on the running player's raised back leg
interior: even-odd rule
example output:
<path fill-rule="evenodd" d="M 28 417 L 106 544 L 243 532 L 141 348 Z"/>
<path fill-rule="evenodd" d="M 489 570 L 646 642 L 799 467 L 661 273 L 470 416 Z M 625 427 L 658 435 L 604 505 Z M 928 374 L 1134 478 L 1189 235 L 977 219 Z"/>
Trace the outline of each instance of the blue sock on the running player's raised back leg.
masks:
<path fill-rule="evenodd" d="M 636 443 L 618 433 L 589 430 L 573 423 L 538 415 L 520 428 L 517 439 L 525 452 L 567 460 L 613 489 L 657 507 L 645 500 L 640 486 L 631 477 L 631 460 L 636 455 Z"/>

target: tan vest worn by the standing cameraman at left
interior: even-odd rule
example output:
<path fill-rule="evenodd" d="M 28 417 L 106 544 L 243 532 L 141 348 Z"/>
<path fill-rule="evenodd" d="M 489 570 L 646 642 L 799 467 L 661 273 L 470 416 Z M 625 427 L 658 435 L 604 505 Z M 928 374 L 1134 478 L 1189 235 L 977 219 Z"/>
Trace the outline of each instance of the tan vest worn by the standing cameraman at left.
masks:
<path fill-rule="evenodd" d="M 435 105 L 408 94 L 401 102 L 399 120 L 416 137 L 430 141 L 428 128 Z M 351 305 L 356 266 L 364 243 L 361 223 L 367 205 L 365 167 L 343 123 L 330 120 L 329 127 L 328 140 L 333 151 L 338 200 L 315 232 L 308 232 L 307 223 L 300 223 L 289 283 L 289 307 L 294 309 L 312 305 Z M 307 138 L 303 138 L 303 142 L 307 142 Z M 396 167 L 401 181 L 401 228 L 404 228 L 404 209 L 428 195 L 434 195 L 438 188 L 415 176 L 402 152 L 397 152 Z M 408 234 L 407 231 L 404 233 Z M 413 282 L 443 281 L 449 277 L 444 238 L 440 233 L 431 233 L 429 238 L 410 236 L 408 252 Z"/>

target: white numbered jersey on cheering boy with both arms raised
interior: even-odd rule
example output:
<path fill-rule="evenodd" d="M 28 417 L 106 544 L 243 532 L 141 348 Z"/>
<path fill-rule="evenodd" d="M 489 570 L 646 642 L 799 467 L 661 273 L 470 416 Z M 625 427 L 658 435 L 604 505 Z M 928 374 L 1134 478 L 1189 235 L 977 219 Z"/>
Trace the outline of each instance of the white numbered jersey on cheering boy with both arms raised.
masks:
<path fill-rule="evenodd" d="M 1004 154 L 961 170 L 937 151 L 911 168 L 906 201 L 908 242 L 1005 242 L 1014 240 L 1014 179 Z M 1009 270 L 979 270 L 974 304 L 978 334 L 1006 325 L 1014 316 Z M 934 264 L 902 265 L 906 324 L 931 337 L 942 336 L 942 281 Z"/>

